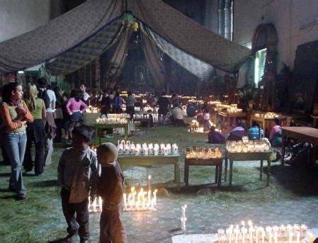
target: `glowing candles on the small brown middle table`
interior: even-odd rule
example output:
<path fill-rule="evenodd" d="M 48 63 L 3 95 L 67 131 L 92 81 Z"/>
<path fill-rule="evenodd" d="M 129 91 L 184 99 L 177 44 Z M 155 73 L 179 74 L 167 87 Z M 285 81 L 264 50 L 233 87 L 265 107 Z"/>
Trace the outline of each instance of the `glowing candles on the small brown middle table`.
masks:
<path fill-rule="evenodd" d="M 222 158 L 222 151 L 218 147 L 194 147 L 186 149 L 188 159 L 216 159 Z"/>

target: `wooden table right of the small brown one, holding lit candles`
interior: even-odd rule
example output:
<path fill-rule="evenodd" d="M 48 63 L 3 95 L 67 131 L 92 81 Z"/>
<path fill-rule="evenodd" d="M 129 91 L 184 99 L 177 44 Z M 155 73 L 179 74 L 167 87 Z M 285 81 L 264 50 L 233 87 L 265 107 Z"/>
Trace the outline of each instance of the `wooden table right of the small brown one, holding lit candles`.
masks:
<path fill-rule="evenodd" d="M 271 171 L 271 154 L 272 151 L 268 152 L 248 152 L 248 153 L 232 153 L 226 152 L 225 158 L 225 174 L 227 174 L 227 159 L 229 159 L 229 186 L 232 186 L 232 171 L 233 171 L 233 162 L 234 161 L 261 161 L 261 169 L 259 174 L 259 179 L 262 179 L 263 176 L 263 160 L 267 161 L 267 186 L 269 185 L 270 171 Z"/>

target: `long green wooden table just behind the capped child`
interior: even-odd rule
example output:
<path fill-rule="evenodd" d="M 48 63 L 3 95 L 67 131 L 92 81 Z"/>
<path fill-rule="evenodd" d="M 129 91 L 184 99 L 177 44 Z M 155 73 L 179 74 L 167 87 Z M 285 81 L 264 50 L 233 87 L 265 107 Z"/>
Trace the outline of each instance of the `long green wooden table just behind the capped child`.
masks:
<path fill-rule="evenodd" d="M 180 165 L 179 159 L 181 155 L 179 153 L 169 154 L 168 156 L 135 156 L 135 155 L 118 155 L 118 162 L 120 166 L 125 165 L 161 165 L 161 164 L 174 164 L 174 183 L 176 183 L 178 190 L 180 190 Z M 122 167 L 123 168 L 123 167 Z"/>

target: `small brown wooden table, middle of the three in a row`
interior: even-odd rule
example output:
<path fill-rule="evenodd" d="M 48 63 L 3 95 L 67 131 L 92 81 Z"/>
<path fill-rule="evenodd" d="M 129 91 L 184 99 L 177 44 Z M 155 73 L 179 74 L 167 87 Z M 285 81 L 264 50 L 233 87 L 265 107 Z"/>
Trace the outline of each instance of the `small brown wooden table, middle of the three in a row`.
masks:
<path fill-rule="evenodd" d="M 215 183 L 221 186 L 223 158 L 215 159 L 189 159 L 184 160 L 184 182 L 189 185 L 189 166 L 215 166 Z"/>

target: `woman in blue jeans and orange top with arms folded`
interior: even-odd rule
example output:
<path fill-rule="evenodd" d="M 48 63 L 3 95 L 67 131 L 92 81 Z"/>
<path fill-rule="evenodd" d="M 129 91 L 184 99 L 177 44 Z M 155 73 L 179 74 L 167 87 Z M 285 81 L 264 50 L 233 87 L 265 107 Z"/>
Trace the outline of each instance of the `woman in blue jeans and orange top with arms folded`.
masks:
<path fill-rule="evenodd" d="M 11 164 L 9 190 L 17 193 L 18 199 L 25 199 L 26 191 L 22 179 L 22 163 L 25 153 L 26 133 L 25 123 L 33 122 L 31 115 L 22 100 L 21 84 L 14 82 L 4 86 L 3 103 L 0 113 L 4 130 L 4 147 Z"/>

